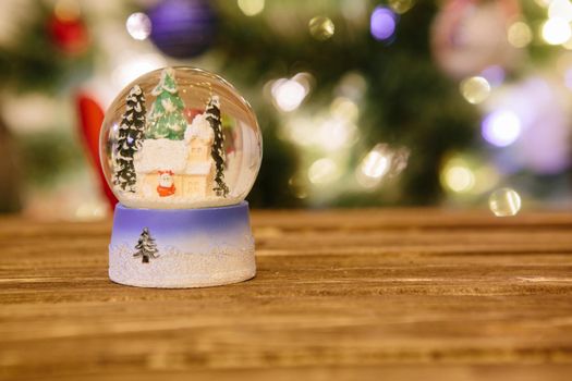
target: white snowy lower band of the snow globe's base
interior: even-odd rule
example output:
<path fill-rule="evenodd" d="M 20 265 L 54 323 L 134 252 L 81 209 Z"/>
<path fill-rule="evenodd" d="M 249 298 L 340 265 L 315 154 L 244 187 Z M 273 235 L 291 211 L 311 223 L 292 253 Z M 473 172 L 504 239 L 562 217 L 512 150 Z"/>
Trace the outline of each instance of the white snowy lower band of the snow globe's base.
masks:
<path fill-rule="evenodd" d="M 148 263 L 134 258 L 126 246 L 109 250 L 111 281 L 138 287 L 207 287 L 246 281 L 255 274 L 254 248 L 224 254 L 183 254 L 171 248 Z"/>

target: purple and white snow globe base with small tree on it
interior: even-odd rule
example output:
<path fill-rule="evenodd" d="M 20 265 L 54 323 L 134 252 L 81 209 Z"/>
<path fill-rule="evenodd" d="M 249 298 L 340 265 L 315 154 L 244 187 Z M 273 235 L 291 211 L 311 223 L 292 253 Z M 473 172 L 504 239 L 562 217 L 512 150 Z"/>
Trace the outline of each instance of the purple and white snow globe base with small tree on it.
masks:
<path fill-rule="evenodd" d="M 256 274 L 248 204 L 205 209 L 115 207 L 109 278 L 139 287 L 206 287 Z"/>

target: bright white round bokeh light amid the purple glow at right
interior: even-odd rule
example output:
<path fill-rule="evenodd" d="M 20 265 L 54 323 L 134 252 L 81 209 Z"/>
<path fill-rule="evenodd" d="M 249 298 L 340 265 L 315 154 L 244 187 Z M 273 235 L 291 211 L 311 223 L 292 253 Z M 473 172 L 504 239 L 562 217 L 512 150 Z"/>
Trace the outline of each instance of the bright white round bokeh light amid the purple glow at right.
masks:
<path fill-rule="evenodd" d="M 497 147 L 513 144 L 521 135 L 519 116 L 508 110 L 499 110 L 488 114 L 482 124 L 482 134 L 485 140 Z"/>

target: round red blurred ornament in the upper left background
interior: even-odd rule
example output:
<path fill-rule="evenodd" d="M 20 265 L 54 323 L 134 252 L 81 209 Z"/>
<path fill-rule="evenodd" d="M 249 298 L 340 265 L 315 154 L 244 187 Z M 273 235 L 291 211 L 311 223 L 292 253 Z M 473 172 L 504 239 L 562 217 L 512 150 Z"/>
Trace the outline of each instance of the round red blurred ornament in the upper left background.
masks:
<path fill-rule="evenodd" d="M 68 54 L 81 54 L 89 47 L 89 35 L 80 17 L 68 20 L 54 15 L 48 23 L 48 32 L 53 44 Z"/>

